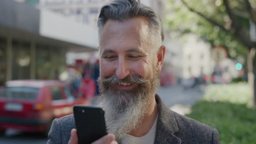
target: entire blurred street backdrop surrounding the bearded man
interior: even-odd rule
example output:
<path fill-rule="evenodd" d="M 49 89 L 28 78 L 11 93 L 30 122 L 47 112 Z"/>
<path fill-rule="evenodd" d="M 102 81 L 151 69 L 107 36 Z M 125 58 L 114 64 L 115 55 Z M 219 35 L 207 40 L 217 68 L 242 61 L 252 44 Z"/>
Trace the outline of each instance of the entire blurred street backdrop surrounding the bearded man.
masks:
<path fill-rule="evenodd" d="M 97 16 L 110 1 L 0 1 L 0 143 L 46 143 L 53 118 L 94 104 Z M 256 1 L 141 2 L 164 25 L 166 105 L 217 128 L 222 143 L 256 143 Z"/>

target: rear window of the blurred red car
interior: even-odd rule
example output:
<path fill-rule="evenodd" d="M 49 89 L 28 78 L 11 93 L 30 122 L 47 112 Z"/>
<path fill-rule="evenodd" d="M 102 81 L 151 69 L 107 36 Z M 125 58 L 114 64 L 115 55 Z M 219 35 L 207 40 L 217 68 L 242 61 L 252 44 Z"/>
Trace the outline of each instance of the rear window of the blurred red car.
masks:
<path fill-rule="evenodd" d="M 0 98 L 36 100 L 39 88 L 5 87 L 0 90 Z"/>

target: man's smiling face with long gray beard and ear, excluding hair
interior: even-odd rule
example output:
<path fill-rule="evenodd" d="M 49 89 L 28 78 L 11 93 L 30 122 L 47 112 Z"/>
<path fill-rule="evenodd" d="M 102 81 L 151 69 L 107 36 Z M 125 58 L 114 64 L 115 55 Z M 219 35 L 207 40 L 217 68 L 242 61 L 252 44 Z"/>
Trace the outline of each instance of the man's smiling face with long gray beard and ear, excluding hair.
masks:
<path fill-rule="evenodd" d="M 143 17 L 108 20 L 102 30 L 97 106 L 116 140 L 142 122 L 159 86 L 165 47 L 154 47 L 148 24 Z"/>

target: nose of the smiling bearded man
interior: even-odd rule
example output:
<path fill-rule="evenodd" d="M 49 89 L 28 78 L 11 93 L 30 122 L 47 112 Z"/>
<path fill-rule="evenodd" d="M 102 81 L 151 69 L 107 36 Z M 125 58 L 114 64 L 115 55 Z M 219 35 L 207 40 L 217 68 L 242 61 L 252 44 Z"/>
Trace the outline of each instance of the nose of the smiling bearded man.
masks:
<path fill-rule="evenodd" d="M 126 76 L 130 74 L 129 66 L 125 59 L 118 59 L 117 69 L 115 70 L 115 75 L 117 75 L 118 79 L 124 79 Z"/>

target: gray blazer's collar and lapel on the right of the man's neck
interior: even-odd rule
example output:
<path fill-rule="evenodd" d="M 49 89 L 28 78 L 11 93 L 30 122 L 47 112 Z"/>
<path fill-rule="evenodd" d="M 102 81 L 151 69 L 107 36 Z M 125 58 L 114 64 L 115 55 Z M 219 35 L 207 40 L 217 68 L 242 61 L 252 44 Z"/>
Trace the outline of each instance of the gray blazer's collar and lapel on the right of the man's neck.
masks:
<path fill-rule="evenodd" d="M 158 94 L 155 95 L 155 100 L 158 104 L 159 113 L 154 143 L 181 143 L 182 140 L 175 135 L 179 129 L 173 112 L 164 104 Z"/>

